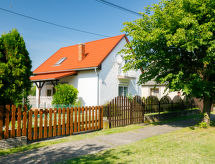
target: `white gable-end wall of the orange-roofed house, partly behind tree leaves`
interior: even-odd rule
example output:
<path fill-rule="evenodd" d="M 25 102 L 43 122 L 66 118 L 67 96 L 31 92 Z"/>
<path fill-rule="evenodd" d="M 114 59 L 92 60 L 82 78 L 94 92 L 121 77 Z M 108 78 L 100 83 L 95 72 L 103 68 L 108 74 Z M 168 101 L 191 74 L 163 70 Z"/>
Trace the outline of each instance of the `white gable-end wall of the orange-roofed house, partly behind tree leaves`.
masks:
<path fill-rule="evenodd" d="M 118 64 L 116 56 L 118 52 L 124 48 L 126 40 L 122 39 L 120 43 L 114 48 L 114 50 L 108 55 L 101 65 L 99 72 L 99 104 L 106 104 L 114 97 L 118 96 L 119 85 L 127 85 L 128 93 L 131 95 L 141 96 L 141 87 L 137 85 L 140 71 L 128 71 L 122 72 L 122 67 L 125 64 L 124 61 Z M 130 78 L 118 79 L 118 75 L 127 76 Z"/>

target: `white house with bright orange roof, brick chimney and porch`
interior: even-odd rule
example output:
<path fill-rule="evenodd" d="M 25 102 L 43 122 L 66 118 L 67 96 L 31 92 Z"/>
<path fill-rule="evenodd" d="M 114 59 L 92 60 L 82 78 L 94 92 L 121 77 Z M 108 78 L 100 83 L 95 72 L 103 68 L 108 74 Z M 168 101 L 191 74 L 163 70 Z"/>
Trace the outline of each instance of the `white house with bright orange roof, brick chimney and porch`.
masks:
<path fill-rule="evenodd" d="M 77 88 L 84 106 L 103 105 L 116 96 L 142 96 L 141 86 L 137 85 L 140 71 L 122 71 L 125 63 L 118 52 L 127 42 L 126 35 L 119 35 L 58 50 L 33 71 L 36 105 L 43 104 L 40 97 L 44 96 L 50 105 L 53 87 L 58 83 Z"/>

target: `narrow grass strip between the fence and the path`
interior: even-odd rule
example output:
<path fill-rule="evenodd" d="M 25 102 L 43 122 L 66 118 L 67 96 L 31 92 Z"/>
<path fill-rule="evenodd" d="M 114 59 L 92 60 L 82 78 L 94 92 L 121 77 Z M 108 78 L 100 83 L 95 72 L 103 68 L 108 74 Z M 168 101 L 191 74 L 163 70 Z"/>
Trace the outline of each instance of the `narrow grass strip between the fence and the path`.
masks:
<path fill-rule="evenodd" d="M 199 115 L 197 115 L 197 114 L 190 115 L 190 116 L 184 116 L 184 117 L 177 117 L 177 118 L 168 119 L 166 121 L 162 121 L 162 122 L 158 122 L 158 123 L 152 123 L 152 124 L 149 124 L 146 126 L 152 126 L 152 125 L 163 124 L 163 123 L 167 123 L 167 122 L 173 122 L 173 121 L 179 121 L 179 120 L 185 120 L 185 119 L 191 119 L 191 118 L 198 118 L 198 117 L 199 117 Z M 140 128 L 144 128 L 146 126 L 143 126 L 140 124 L 135 124 L 135 125 L 129 125 L 129 126 L 125 126 L 125 127 L 118 127 L 118 128 L 96 131 L 96 132 L 87 133 L 87 134 L 72 135 L 72 136 L 68 136 L 68 137 L 62 137 L 59 139 L 41 141 L 41 142 L 32 143 L 32 144 L 28 144 L 28 145 L 17 147 L 17 148 L 12 148 L 12 149 L 4 149 L 4 150 L 0 149 L 0 156 L 13 154 L 13 153 L 17 153 L 17 152 L 22 152 L 22 151 L 27 151 L 27 150 L 32 150 L 32 149 L 37 149 L 37 148 L 41 148 L 41 147 L 45 147 L 45 146 L 51 146 L 54 144 L 59 144 L 59 143 L 64 143 L 64 142 L 83 140 L 86 138 L 96 137 L 98 135 L 108 135 L 108 134 L 113 134 L 113 133 L 122 133 L 122 132 L 137 130 Z"/>

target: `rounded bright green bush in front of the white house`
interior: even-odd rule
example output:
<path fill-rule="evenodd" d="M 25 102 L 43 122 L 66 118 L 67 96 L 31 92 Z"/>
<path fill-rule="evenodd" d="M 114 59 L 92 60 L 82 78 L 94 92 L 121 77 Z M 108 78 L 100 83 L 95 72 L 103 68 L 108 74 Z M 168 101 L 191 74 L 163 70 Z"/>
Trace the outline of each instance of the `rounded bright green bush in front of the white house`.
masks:
<path fill-rule="evenodd" d="M 55 94 L 52 104 L 56 105 L 73 105 L 78 97 L 78 90 L 69 84 L 58 84 L 55 86 Z"/>

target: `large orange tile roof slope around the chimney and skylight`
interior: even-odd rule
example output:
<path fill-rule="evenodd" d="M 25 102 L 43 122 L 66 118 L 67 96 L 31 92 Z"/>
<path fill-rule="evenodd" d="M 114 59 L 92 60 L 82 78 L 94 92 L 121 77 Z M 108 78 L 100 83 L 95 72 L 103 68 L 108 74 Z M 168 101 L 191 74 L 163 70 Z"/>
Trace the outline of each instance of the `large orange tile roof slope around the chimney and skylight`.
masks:
<path fill-rule="evenodd" d="M 98 67 L 124 37 L 126 38 L 125 34 L 85 43 L 86 57 L 82 61 L 78 61 L 78 44 L 61 48 L 33 73 L 41 74 Z M 62 64 L 55 66 L 63 57 L 67 59 Z"/>

